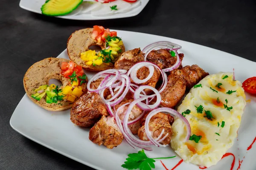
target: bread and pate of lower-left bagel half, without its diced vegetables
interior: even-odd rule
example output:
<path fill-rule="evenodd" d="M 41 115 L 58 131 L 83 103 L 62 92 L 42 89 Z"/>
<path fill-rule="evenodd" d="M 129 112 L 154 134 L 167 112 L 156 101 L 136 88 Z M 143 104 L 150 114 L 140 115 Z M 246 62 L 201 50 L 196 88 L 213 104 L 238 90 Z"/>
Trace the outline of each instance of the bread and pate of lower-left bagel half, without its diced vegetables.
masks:
<path fill-rule="evenodd" d="M 68 59 L 46 58 L 33 64 L 24 75 L 23 85 L 27 96 L 35 104 L 48 111 L 62 111 L 72 107 L 73 102 L 59 101 L 58 103 L 47 103 L 45 98 L 40 101 L 31 97 L 35 89 L 41 85 L 48 85 L 49 79 L 58 79 L 62 82 L 63 88 L 69 85 L 69 79 L 61 74 L 61 62 L 69 62 Z M 83 87 L 85 88 L 85 87 Z M 77 99 L 76 99 L 77 100 Z M 75 100 L 75 101 L 76 101 Z"/>

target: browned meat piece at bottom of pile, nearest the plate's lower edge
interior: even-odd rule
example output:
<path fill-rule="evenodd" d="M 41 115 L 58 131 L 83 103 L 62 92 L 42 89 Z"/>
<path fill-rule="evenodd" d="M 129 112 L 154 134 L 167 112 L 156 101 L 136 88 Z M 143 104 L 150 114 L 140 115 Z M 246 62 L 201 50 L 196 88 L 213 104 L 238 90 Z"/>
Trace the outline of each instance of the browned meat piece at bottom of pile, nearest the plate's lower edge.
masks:
<path fill-rule="evenodd" d="M 89 132 L 89 139 L 95 144 L 104 144 L 109 149 L 122 143 L 123 135 L 113 117 L 104 115 Z"/>

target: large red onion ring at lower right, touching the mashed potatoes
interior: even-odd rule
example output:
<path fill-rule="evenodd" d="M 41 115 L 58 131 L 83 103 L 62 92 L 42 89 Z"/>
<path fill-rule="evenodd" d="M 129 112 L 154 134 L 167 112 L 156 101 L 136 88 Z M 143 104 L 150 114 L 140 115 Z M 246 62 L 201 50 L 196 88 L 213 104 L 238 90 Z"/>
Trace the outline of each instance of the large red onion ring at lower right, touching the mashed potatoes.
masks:
<path fill-rule="evenodd" d="M 153 139 L 153 137 L 151 136 L 151 132 L 149 131 L 149 126 L 148 126 L 151 117 L 156 115 L 159 112 L 166 112 L 166 113 L 172 114 L 174 116 L 177 116 L 185 124 L 186 130 L 187 130 L 187 135 L 186 135 L 183 142 L 186 142 L 186 141 L 189 140 L 189 137 L 191 135 L 191 128 L 190 128 L 188 120 L 184 116 L 182 116 L 182 114 L 175 111 L 174 109 L 171 109 L 171 108 L 157 108 L 154 111 L 151 111 L 150 113 L 148 113 L 148 116 L 145 120 L 145 132 L 146 132 L 147 137 L 150 141 L 154 142 L 154 144 L 157 144 L 158 146 L 165 147 L 165 145 L 162 145 L 159 142 L 157 142 L 155 139 Z"/>

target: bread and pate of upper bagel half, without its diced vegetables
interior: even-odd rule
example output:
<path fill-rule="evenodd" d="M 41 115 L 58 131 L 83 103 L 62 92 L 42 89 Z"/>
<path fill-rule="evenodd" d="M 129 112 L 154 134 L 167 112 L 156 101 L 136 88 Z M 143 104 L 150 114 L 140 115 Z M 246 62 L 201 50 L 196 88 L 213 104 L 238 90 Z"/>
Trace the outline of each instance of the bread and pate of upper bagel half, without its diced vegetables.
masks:
<path fill-rule="evenodd" d="M 67 54 L 73 62 L 75 62 L 77 65 L 81 65 L 84 70 L 87 71 L 103 71 L 110 68 L 113 68 L 114 65 L 86 65 L 85 61 L 81 59 L 80 54 L 82 52 L 88 51 L 90 46 L 97 45 L 102 50 L 106 48 L 106 43 L 99 43 L 97 40 L 93 40 L 91 35 L 93 33 L 93 28 L 85 28 L 80 29 L 78 31 L 73 32 L 69 39 L 67 40 Z M 116 57 L 116 60 L 121 56 L 123 52 L 125 52 L 125 46 L 121 45 L 120 48 L 122 49 L 121 53 L 119 53 L 118 57 Z M 116 61 L 115 60 L 115 61 Z"/>

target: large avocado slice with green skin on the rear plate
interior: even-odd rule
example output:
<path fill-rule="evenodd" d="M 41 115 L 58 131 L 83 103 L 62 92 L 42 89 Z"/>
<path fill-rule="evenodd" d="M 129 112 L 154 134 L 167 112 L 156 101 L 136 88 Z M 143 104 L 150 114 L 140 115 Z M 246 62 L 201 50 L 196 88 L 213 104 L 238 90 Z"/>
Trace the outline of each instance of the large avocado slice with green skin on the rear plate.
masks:
<path fill-rule="evenodd" d="M 42 14 L 62 16 L 75 10 L 83 0 L 47 0 L 41 7 Z"/>

